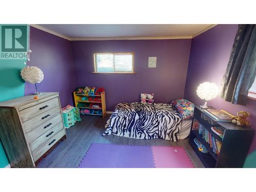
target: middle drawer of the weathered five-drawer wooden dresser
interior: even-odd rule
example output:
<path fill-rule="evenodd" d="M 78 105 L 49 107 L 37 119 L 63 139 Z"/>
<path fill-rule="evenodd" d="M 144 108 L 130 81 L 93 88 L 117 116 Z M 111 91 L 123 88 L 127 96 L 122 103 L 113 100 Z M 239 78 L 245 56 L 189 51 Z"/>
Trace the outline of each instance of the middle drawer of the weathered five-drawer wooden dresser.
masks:
<path fill-rule="evenodd" d="M 45 134 L 46 132 L 49 132 L 49 130 L 52 129 L 52 127 L 54 127 L 55 125 L 57 125 L 59 123 L 61 123 L 62 129 L 64 129 L 60 113 L 55 115 L 51 119 L 48 119 L 46 122 L 36 126 L 30 132 L 26 133 L 28 142 L 30 143 L 31 141 L 35 140 L 40 135 Z"/>

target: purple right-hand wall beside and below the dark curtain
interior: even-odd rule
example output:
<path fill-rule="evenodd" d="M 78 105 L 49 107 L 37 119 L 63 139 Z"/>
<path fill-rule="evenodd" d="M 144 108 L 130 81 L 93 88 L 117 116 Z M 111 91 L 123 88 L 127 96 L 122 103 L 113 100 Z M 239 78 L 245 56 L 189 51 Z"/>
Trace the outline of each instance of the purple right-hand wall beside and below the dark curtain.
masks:
<path fill-rule="evenodd" d="M 203 100 L 196 94 L 199 84 L 209 81 L 215 82 L 220 86 L 237 30 L 238 25 L 218 25 L 193 38 L 184 98 L 189 99 L 197 105 L 203 104 Z M 242 106 L 232 104 L 218 97 L 209 101 L 209 106 L 214 106 L 216 109 L 224 109 L 233 115 L 238 111 L 248 111 L 251 114 L 251 126 L 256 130 L 255 100 L 248 99 L 248 104 Z M 256 137 L 254 137 L 250 152 L 255 149 Z"/>

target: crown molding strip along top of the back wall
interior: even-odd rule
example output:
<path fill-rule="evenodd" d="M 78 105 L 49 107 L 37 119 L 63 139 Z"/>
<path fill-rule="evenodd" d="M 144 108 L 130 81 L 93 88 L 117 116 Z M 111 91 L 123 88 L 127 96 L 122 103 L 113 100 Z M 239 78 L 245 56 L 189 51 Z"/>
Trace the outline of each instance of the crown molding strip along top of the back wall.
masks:
<path fill-rule="evenodd" d="M 70 40 L 153 40 L 153 39 L 191 39 L 192 36 L 165 36 L 165 37 L 82 37 Z"/>

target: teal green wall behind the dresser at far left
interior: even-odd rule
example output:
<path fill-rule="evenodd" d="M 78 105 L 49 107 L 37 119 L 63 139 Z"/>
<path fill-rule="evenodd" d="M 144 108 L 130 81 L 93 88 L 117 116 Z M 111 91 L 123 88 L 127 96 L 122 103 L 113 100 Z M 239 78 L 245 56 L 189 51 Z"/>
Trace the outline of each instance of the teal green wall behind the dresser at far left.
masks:
<path fill-rule="evenodd" d="M 0 59 L 0 101 L 24 96 L 25 82 L 20 77 L 20 70 L 25 67 L 24 62 L 25 59 Z M 8 158 L 0 142 L 0 167 L 6 167 L 8 164 Z"/>

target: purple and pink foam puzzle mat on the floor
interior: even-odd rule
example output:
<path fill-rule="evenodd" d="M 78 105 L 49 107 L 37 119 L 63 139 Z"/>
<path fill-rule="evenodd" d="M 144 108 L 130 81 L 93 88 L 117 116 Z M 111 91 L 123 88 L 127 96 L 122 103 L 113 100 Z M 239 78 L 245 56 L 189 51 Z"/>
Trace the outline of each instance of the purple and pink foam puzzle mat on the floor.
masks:
<path fill-rule="evenodd" d="M 79 168 L 195 167 L 183 147 L 92 143 Z"/>

